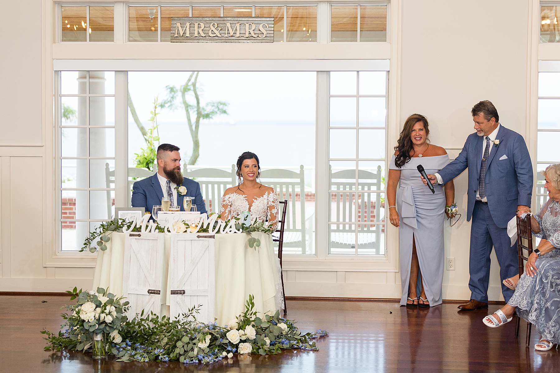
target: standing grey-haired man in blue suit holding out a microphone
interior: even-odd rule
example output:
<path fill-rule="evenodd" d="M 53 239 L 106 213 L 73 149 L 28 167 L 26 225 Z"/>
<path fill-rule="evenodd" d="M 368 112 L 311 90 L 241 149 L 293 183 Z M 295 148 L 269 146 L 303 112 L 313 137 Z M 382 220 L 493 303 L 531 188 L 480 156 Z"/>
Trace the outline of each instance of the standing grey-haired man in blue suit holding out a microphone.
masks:
<path fill-rule="evenodd" d="M 471 111 L 476 133 L 469 135 L 458 157 L 435 175 L 432 182 L 445 184 L 469 169 L 466 220 L 470 228 L 470 301 L 459 309 L 488 308 L 488 278 L 492 245 L 500 263 L 500 278 L 515 276 L 517 244 L 510 247 L 507 222 L 516 214 L 529 213 L 533 193 L 533 165 L 522 136 L 500 125 L 490 101 L 480 101 Z M 426 181 L 422 178 L 424 184 Z M 502 283 L 503 298 L 514 291 Z"/>

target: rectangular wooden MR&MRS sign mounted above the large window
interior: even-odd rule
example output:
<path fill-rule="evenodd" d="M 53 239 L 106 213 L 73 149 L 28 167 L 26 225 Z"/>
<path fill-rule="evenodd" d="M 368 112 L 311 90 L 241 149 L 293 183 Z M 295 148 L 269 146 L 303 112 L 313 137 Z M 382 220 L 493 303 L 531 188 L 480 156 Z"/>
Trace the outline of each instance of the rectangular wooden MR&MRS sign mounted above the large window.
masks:
<path fill-rule="evenodd" d="M 171 43 L 273 41 L 273 17 L 171 17 Z"/>

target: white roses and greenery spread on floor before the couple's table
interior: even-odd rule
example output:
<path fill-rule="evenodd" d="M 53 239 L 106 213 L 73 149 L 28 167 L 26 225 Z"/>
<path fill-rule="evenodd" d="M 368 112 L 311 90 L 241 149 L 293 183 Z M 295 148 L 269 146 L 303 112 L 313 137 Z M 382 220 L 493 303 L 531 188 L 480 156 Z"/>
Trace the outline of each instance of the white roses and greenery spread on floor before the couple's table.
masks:
<path fill-rule="evenodd" d="M 212 363 L 234 354 L 273 355 L 283 350 L 319 350 L 315 339 L 328 336 L 326 330 L 302 334 L 295 321 L 274 315 L 257 317 L 253 296 L 245 312 L 224 327 L 216 323 L 199 323 L 198 309 L 192 308 L 179 319 L 171 320 L 150 313 L 128 319 L 128 302 L 102 288 L 97 291 L 68 291 L 77 304 L 67 305 L 71 313 L 62 317 L 66 323 L 58 333 L 43 330 L 48 346 L 45 350 L 63 349 L 118 357 L 117 361 L 180 361 Z M 106 338 L 97 338 L 99 334 Z M 102 343 L 107 339 L 106 343 Z M 97 342 L 101 341 L 101 342 Z M 102 347 L 101 347 L 102 346 Z M 99 349 L 102 348 L 102 351 Z M 97 350 L 96 350 L 97 349 Z"/>

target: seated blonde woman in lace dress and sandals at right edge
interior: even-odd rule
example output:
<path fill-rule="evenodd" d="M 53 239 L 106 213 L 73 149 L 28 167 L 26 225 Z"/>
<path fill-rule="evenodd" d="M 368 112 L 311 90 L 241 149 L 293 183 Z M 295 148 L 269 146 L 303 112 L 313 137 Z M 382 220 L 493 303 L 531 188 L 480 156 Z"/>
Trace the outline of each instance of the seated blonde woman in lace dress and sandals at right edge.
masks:
<path fill-rule="evenodd" d="M 541 334 L 535 350 L 548 351 L 560 344 L 560 164 L 551 164 L 542 173 L 549 199 L 539 214 L 531 217 L 533 235 L 541 238 L 539 247 L 529 256 L 510 301 L 483 323 L 500 327 L 511 321 L 517 308 L 517 315 Z"/>

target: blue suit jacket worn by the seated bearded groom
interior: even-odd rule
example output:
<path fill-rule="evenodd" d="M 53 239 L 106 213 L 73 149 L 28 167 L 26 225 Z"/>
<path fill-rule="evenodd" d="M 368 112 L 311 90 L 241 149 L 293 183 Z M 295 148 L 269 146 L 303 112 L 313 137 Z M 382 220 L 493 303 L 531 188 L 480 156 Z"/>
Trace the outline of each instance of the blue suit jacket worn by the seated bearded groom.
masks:
<path fill-rule="evenodd" d="M 206 214 L 206 206 L 202 193 L 200 193 L 199 183 L 185 177 L 183 186 L 186 187 L 185 196 L 192 197 L 193 205 L 197 205 L 197 211 L 200 211 L 200 214 Z M 150 214 L 154 205 L 161 205 L 163 197 L 164 192 L 161 190 L 157 172 L 150 177 L 135 182 L 132 186 L 132 207 L 144 207 Z M 183 197 L 177 193 L 177 201 L 174 201 L 176 205 L 181 206 L 181 211 L 184 211 Z"/>

